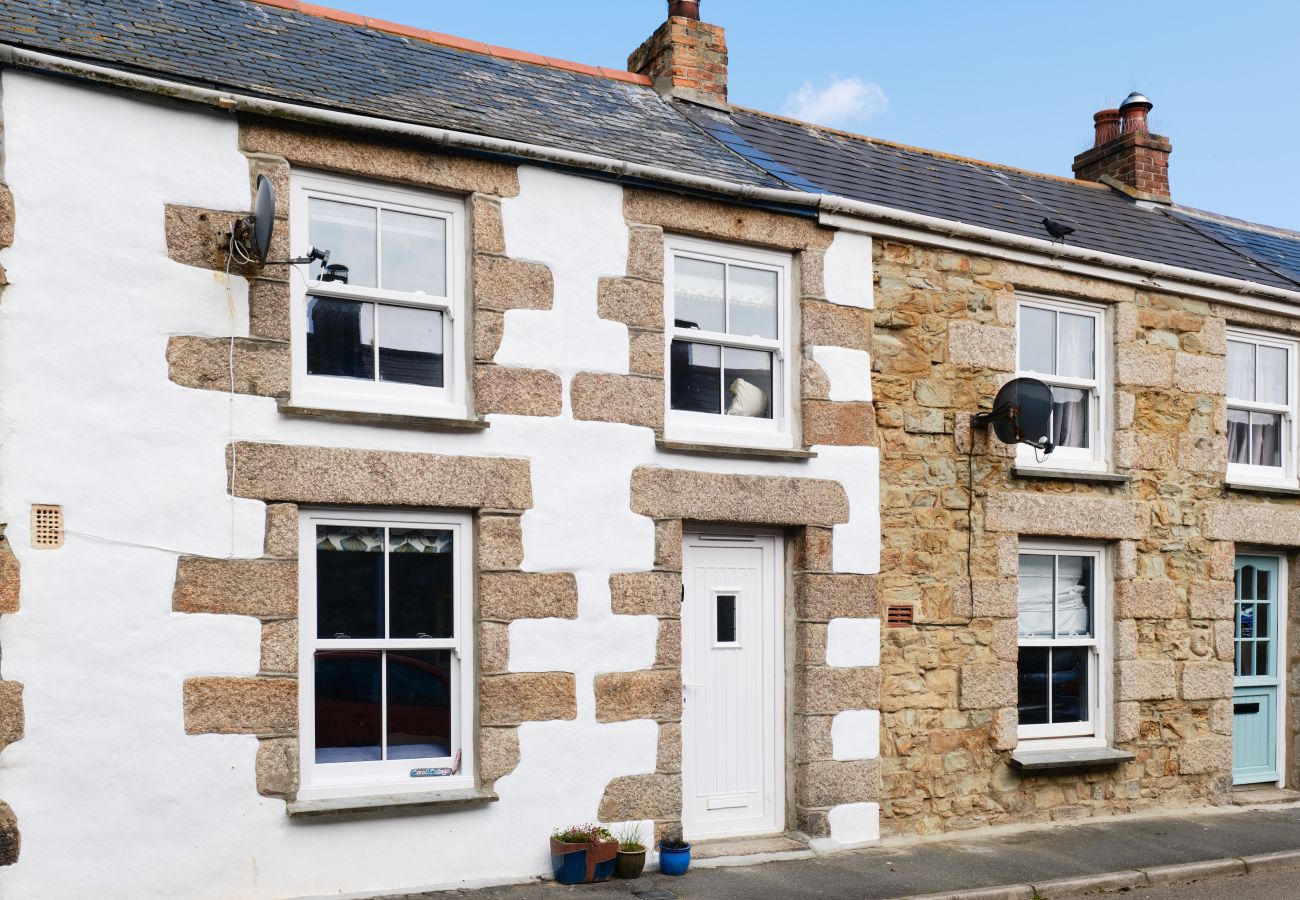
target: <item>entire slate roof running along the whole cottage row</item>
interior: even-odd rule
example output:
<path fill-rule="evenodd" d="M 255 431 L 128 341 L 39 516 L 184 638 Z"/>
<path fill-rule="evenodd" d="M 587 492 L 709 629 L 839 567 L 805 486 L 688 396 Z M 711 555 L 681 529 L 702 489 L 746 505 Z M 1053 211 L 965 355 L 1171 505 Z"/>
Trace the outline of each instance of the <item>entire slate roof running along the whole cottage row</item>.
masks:
<path fill-rule="evenodd" d="M 1108 187 L 734 109 L 664 100 L 578 64 L 299 12 L 295 0 L 0 0 L 0 42 L 203 87 L 836 194 L 1273 287 L 1300 290 L 1300 235 Z M 441 40 L 441 43 L 437 43 Z M 450 44 L 450 46 L 448 46 Z M 612 74 L 612 73 L 607 73 Z M 644 79 L 642 79 L 644 81 Z"/>

